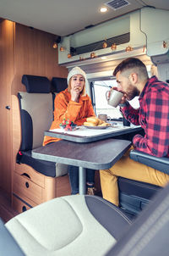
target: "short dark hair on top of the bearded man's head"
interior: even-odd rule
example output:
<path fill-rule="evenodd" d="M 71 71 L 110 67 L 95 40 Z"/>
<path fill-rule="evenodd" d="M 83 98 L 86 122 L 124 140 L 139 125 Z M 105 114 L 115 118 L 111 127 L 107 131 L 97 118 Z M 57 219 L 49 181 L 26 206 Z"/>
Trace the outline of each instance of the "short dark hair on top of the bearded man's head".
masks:
<path fill-rule="evenodd" d="M 147 74 L 146 67 L 144 63 L 139 60 L 139 58 L 126 58 L 117 65 L 116 69 L 113 72 L 113 75 L 116 76 L 118 71 L 123 72 L 125 70 L 130 70 L 134 68 L 138 68 L 141 72 L 144 73 L 144 75 Z"/>

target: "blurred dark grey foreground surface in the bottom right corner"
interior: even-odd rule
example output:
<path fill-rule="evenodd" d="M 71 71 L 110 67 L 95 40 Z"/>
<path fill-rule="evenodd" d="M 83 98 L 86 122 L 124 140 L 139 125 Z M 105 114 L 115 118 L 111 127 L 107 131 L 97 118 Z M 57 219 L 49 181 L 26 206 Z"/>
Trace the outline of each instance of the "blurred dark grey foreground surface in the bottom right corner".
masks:
<path fill-rule="evenodd" d="M 124 231 L 106 256 L 169 255 L 169 185 L 157 194 L 137 220 Z"/>

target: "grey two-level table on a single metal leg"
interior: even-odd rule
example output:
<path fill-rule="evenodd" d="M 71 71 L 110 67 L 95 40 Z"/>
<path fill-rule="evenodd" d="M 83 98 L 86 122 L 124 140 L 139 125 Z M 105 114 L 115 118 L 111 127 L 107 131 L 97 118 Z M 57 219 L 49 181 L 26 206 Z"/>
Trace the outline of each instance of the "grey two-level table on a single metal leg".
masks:
<path fill-rule="evenodd" d="M 79 167 L 79 194 L 86 192 L 86 169 L 106 170 L 120 159 L 132 142 L 113 138 L 123 133 L 135 131 L 139 127 L 107 127 L 88 129 L 79 127 L 76 131 L 46 131 L 47 136 L 63 140 L 32 150 L 35 159 L 70 164 Z"/>

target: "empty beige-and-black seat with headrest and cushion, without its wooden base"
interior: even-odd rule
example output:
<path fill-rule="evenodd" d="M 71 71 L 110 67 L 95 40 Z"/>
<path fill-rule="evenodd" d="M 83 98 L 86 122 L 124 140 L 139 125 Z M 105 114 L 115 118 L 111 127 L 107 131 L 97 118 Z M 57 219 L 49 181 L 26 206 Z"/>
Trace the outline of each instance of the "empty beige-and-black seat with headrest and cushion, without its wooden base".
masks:
<path fill-rule="evenodd" d="M 31 150 L 41 147 L 44 131 L 48 130 L 53 120 L 53 97 L 51 83 L 46 77 L 23 75 L 22 82 L 27 92 L 19 92 L 22 140 L 17 163 L 29 164 L 41 174 L 57 177 L 66 175 L 65 164 L 55 164 L 31 157 Z"/>

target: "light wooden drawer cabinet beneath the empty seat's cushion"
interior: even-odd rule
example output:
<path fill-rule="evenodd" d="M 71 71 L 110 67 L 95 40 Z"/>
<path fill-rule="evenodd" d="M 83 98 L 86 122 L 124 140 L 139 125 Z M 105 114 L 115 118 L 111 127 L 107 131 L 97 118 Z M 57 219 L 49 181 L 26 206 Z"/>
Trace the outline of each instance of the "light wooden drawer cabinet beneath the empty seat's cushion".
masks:
<path fill-rule="evenodd" d="M 29 165 L 15 164 L 12 205 L 19 213 L 70 192 L 68 175 L 52 178 Z"/>

